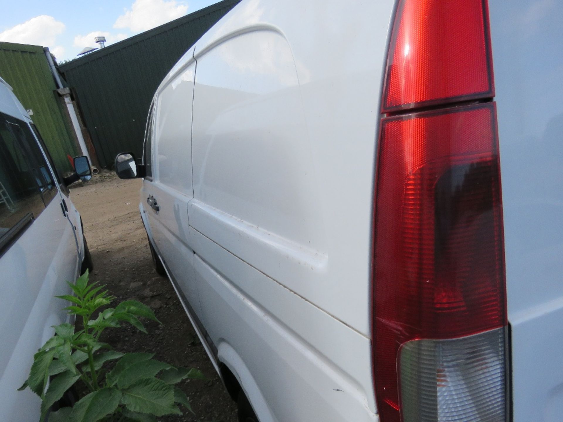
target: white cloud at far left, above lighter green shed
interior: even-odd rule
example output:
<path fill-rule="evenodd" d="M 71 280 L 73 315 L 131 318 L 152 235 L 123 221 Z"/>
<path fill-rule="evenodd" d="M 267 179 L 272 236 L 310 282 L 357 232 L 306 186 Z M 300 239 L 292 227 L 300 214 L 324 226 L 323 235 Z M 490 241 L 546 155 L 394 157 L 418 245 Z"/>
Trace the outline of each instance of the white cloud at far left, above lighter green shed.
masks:
<path fill-rule="evenodd" d="M 52 47 L 56 43 L 57 35 L 64 30 L 65 24 L 52 16 L 35 16 L 23 24 L 12 26 L 1 32 L 0 41 Z M 53 50 L 55 48 L 62 47 L 53 47 Z"/>

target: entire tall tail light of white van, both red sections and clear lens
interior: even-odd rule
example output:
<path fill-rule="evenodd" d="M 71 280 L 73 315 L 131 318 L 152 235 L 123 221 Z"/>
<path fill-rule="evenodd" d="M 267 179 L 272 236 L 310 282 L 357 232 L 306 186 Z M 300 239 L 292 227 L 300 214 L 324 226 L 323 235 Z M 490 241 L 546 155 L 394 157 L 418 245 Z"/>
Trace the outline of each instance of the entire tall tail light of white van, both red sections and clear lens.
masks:
<path fill-rule="evenodd" d="M 486 0 L 397 0 L 382 92 L 372 289 L 380 420 L 506 422 Z"/>

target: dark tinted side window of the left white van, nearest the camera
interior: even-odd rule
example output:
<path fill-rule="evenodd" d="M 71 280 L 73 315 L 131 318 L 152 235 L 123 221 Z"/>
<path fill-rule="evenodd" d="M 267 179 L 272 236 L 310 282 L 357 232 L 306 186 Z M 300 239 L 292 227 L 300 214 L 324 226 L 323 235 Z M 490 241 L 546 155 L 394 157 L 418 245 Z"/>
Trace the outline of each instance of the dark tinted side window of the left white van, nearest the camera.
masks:
<path fill-rule="evenodd" d="M 57 192 L 28 125 L 0 113 L 0 253 Z"/>

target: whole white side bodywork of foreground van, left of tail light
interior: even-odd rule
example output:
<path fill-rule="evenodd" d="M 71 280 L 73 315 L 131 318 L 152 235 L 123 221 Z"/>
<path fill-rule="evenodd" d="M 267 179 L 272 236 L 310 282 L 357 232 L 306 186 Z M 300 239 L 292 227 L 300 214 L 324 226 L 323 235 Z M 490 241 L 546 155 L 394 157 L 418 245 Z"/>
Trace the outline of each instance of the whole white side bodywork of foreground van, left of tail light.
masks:
<path fill-rule="evenodd" d="M 243 1 L 155 95 L 141 214 L 202 341 L 261 421 L 377 420 L 372 190 L 393 6 Z M 190 104 L 175 91 L 192 63 Z M 168 131 L 176 145 L 161 146 Z"/>

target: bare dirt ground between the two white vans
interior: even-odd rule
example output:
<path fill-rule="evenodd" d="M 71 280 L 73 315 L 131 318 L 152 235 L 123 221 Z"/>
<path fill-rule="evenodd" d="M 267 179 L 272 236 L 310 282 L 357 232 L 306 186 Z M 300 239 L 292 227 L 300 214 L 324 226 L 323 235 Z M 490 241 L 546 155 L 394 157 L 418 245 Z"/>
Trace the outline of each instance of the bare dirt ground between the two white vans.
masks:
<path fill-rule="evenodd" d="M 112 330 L 105 342 L 123 352 L 150 352 L 172 365 L 195 367 L 207 381 L 179 384 L 195 416 L 166 416 L 162 421 L 235 422 L 236 405 L 230 399 L 199 342 L 170 282 L 155 271 L 139 215 L 141 179 L 120 180 L 113 173 L 94 176 L 85 186 L 71 189 L 81 213 L 84 234 L 92 254 L 91 281 L 106 284 L 116 303 L 136 299 L 153 308 L 163 322 L 146 322 L 148 335 L 136 329 Z"/>

